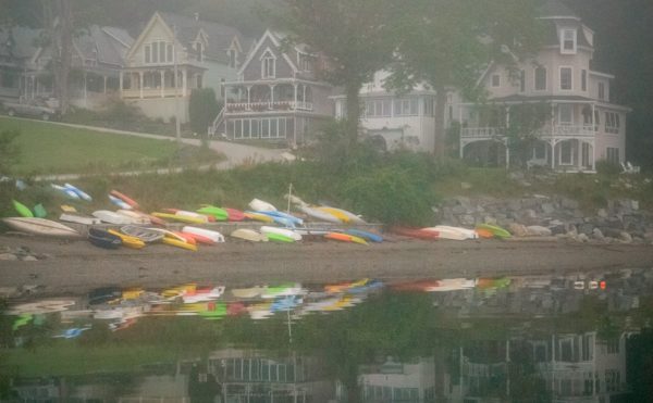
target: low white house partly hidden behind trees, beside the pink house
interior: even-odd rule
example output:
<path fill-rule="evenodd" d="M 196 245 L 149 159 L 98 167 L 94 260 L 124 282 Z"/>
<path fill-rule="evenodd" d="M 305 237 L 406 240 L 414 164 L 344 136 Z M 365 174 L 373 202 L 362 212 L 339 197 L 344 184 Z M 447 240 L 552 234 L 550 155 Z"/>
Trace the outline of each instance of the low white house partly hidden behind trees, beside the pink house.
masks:
<path fill-rule="evenodd" d="M 435 133 L 436 92 L 426 85 L 417 85 L 408 93 L 387 91 L 383 85 L 390 73 L 377 72 L 373 80 L 360 91 L 364 137 L 378 143 L 382 150 L 406 148 L 432 151 Z M 346 97 L 333 97 L 335 117 L 346 117 Z"/>

